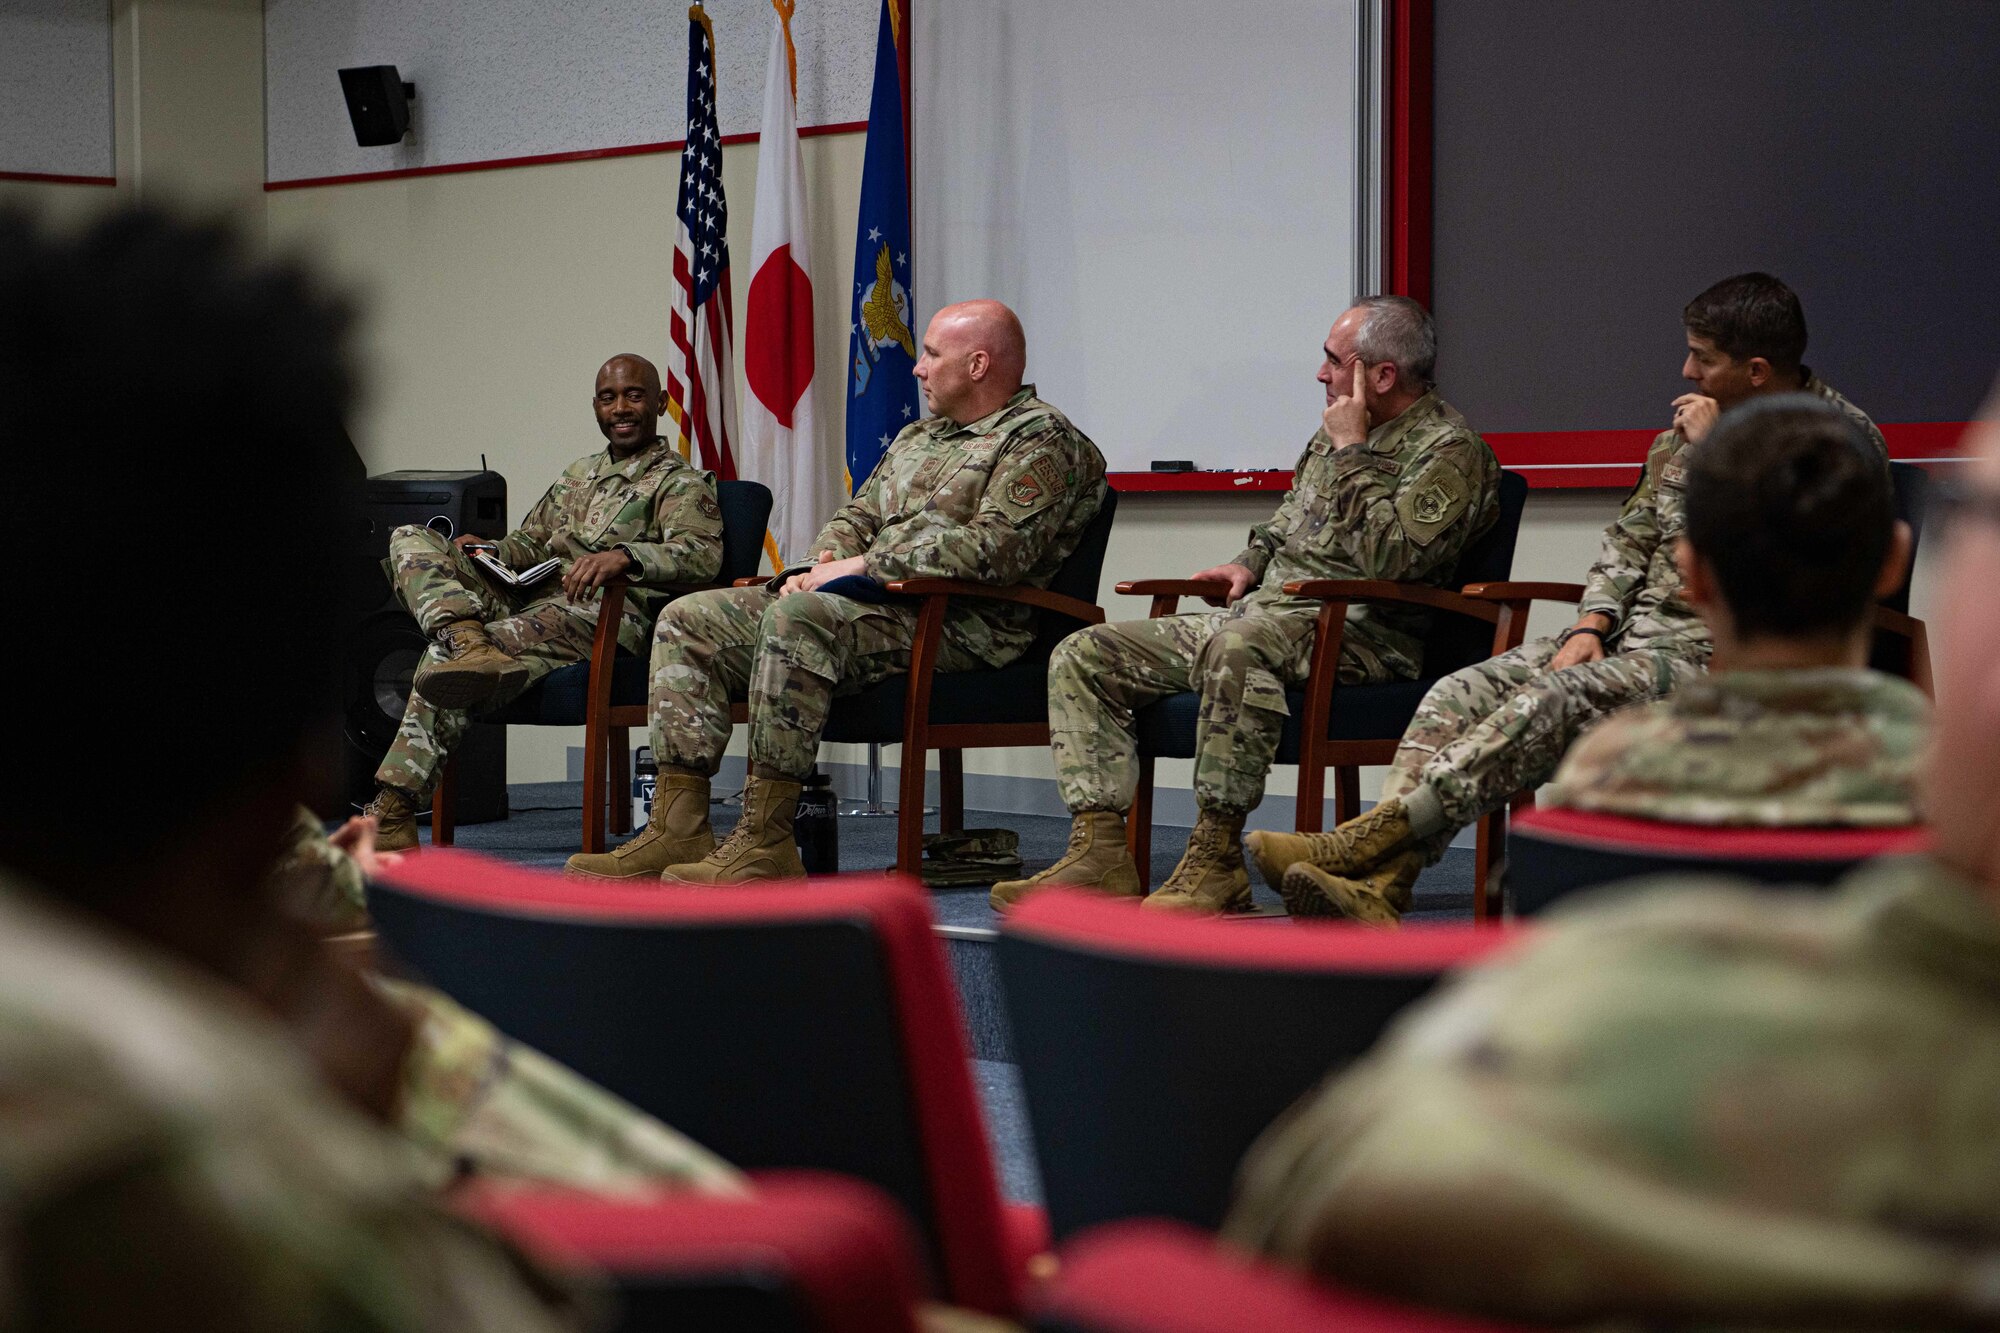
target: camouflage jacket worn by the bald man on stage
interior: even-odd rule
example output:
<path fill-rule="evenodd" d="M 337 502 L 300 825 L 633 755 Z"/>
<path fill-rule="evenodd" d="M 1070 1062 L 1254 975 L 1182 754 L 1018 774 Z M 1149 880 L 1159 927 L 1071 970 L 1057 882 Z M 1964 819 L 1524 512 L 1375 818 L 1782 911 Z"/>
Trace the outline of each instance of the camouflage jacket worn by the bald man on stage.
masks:
<path fill-rule="evenodd" d="M 1104 492 L 1104 454 L 1024 384 L 966 426 L 946 416 L 904 426 L 812 548 L 868 556 L 868 576 L 882 582 L 928 576 L 1046 588 Z M 1000 666 L 1034 638 L 1032 610 L 954 604 L 944 632 Z"/>

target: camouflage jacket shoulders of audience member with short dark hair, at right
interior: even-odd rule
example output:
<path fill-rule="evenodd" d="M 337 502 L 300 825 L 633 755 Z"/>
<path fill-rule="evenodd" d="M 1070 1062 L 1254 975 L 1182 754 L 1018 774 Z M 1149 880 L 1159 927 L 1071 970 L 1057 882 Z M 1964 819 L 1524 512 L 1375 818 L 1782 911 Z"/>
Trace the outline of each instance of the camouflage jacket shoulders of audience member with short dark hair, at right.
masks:
<path fill-rule="evenodd" d="M 1546 805 L 1690 825 L 1914 825 L 1930 701 L 1862 666 L 1730 671 L 1570 749 Z"/>

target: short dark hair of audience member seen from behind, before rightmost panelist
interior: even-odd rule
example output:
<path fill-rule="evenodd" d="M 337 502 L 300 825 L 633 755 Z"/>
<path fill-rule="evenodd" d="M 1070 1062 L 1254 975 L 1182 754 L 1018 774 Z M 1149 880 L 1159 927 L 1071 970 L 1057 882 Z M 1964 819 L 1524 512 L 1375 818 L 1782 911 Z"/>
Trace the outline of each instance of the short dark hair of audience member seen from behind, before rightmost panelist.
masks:
<path fill-rule="evenodd" d="M 1744 638 L 1852 632 L 1896 530 L 1888 468 L 1810 394 L 1730 408 L 1688 452 L 1688 544 Z"/>

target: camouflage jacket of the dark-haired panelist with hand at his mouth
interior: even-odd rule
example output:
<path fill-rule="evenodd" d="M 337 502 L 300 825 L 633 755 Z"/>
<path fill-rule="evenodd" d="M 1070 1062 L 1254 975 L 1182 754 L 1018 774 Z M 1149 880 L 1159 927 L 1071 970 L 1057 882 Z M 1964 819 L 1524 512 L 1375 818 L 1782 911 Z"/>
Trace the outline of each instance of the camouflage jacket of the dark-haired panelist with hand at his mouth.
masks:
<path fill-rule="evenodd" d="M 1868 416 L 1834 392 L 1832 384 L 1804 372 L 1800 392 L 1826 398 L 1846 412 L 1888 462 L 1888 444 Z M 1680 594 L 1680 566 L 1674 538 L 1686 526 L 1688 440 L 1680 430 L 1662 430 L 1646 450 L 1646 468 L 1626 496 L 1612 526 L 1604 528 L 1604 548 L 1584 580 L 1578 614 L 1596 610 L 1610 616 L 1606 648 L 1662 648 L 1694 662 L 1708 660 L 1708 626 Z"/>

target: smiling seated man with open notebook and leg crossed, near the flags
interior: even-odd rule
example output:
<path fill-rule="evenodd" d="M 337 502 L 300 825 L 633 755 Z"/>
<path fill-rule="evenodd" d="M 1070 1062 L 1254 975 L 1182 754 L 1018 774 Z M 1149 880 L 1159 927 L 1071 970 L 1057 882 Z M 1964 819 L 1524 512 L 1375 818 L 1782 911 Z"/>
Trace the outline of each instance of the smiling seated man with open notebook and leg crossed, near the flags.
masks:
<path fill-rule="evenodd" d="M 444 759 L 472 717 L 518 699 L 530 685 L 590 656 L 598 590 L 632 580 L 618 644 L 638 652 L 668 598 L 666 584 L 708 582 L 722 568 L 722 510 L 714 476 L 690 466 L 656 426 L 666 410 L 660 372 L 644 356 L 612 356 L 592 396 L 606 448 L 584 454 L 528 510 L 490 540 L 446 538 L 420 526 L 390 534 L 396 598 L 436 642 L 416 669 L 394 745 L 376 769 L 368 813 L 382 851 L 416 847 L 416 811 L 444 773 Z M 472 554 L 488 548 L 512 570 L 548 558 L 554 574 L 510 588 Z"/>

